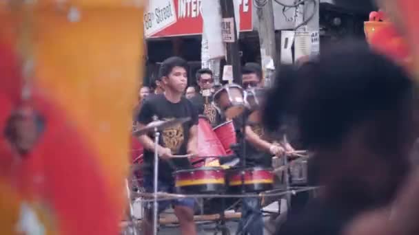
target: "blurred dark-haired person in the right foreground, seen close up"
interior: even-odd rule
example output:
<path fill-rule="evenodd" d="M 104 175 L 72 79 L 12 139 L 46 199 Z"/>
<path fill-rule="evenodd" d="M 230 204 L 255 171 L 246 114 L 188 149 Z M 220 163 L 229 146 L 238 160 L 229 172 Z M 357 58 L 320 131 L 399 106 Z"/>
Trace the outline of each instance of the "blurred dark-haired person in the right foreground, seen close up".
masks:
<path fill-rule="evenodd" d="M 276 128 L 284 117 L 278 110 L 296 117 L 324 188 L 277 234 L 342 234 L 362 212 L 391 202 L 409 172 L 413 84 L 400 67 L 360 44 L 280 71 L 265 123 Z"/>

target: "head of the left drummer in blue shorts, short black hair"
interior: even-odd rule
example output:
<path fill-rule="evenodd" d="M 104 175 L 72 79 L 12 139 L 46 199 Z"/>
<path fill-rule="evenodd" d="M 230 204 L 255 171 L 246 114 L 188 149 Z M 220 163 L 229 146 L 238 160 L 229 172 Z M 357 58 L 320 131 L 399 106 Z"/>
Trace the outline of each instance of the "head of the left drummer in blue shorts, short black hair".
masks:
<path fill-rule="evenodd" d="M 177 56 L 165 59 L 161 63 L 159 78 L 165 89 L 183 93 L 187 86 L 187 62 Z"/>

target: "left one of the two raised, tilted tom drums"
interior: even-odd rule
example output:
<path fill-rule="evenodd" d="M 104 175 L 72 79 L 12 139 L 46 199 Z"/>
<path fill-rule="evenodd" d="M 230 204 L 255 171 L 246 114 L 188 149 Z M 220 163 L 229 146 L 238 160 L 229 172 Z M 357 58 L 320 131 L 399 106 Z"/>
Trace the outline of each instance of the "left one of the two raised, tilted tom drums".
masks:
<path fill-rule="evenodd" d="M 224 113 L 225 117 L 232 119 L 241 115 L 245 110 L 244 92 L 241 86 L 228 84 L 214 93 L 213 104 L 218 113 Z"/>

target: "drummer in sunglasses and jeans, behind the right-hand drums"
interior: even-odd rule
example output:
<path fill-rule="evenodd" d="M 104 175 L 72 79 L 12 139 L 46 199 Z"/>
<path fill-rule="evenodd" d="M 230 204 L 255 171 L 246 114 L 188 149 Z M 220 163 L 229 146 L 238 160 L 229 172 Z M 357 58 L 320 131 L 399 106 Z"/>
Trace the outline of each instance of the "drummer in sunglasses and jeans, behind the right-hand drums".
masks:
<path fill-rule="evenodd" d="M 242 71 L 243 89 L 262 87 L 262 71 L 256 63 L 247 63 Z M 243 114 L 245 116 L 249 113 Z M 246 117 L 247 119 L 247 117 Z M 243 116 L 234 120 L 236 128 L 241 128 Z M 246 166 L 272 167 L 272 156 L 283 155 L 285 148 L 279 144 L 268 142 L 264 137 L 263 126 L 260 123 L 247 122 L 246 136 Z M 241 234 L 263 234 L 263 214 L 260 208 L 260 199 L 245 197 L 242 205 L 242 218 L 238 226 Z"/>

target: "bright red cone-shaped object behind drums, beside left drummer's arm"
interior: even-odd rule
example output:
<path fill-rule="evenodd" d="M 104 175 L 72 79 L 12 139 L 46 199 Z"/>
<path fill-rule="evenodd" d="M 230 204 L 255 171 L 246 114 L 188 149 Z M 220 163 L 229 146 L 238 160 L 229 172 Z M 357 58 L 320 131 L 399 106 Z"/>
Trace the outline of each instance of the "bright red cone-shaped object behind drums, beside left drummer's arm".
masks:
<path fill-rule="evenodd" d="M 194 167 L 204 166 L 219 156 L 224 156 L 225 150 L 217 135 L 212 131 L 210 121 L 204 115 L 199 115 L 198 120 L 198 157 L 191 159 Z M 214 158 L 212 158 L 214 156 Z M 203 159 L 202 157 L 207 157 Z M 209 157 L 209 158 L 208 158 Z M 199 162 L 199 163 L 196 163 Z"/>

